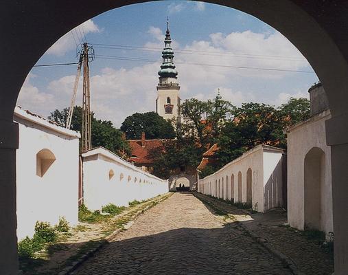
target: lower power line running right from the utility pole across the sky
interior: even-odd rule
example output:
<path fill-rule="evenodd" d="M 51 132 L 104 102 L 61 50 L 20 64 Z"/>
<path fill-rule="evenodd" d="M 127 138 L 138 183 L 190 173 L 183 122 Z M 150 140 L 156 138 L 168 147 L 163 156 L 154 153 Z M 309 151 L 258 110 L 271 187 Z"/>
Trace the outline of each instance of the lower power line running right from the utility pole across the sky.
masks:
<path fill-rule="evenodd" d="M 147 62 L 147 63 L 161 63 L 158 60 L 151 60 L 145 58 L 132 58 L 132 57 L 122 57 L 122 56 L 103 56 L 96 54 L 95 57 L 101 59 L 109 59 L 109 60 L 121 60 L 121 61 L 137 61 L 137 62 Z M 277 68 L 265 68 L 265 67 L 246 67 L 246 66 L 232 66 L 232 65 L 217 65 L 217 64 L 203 64 L 203 63 L 184 63 L 184 62 L 176 62 L 176 64 L 182 65 L 196 65 L 196 66 L 206 66 L 206 67 L 224 67 L 224 68 L 234 68 L 234 69 L 256 69 L 262 71 L 275 71 L 275 72 L 294 72 L 294 73 L 303 73 L 303 74 L 315 74 L 311 71 L 301 71 L 294 69 L 277 69 Z"/>

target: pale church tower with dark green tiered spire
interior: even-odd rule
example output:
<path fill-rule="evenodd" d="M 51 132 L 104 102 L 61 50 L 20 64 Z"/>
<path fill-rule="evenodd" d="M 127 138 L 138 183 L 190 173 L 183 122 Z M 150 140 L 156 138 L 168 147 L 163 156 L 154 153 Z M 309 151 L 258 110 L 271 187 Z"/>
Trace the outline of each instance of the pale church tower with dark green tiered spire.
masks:
<path fill-rule="evenodd" d="M 159 70 L 159 84 L 157 85 L 156 113 L 166 120 L 175 118 L 176 122 L 181 122 L 180 86 L 178 85 L 177 75 L 178 72 L 176 72 L 174 65 L 172 39 L 170 39 L 169 21 L 167 19 L 162 65 Z"/>

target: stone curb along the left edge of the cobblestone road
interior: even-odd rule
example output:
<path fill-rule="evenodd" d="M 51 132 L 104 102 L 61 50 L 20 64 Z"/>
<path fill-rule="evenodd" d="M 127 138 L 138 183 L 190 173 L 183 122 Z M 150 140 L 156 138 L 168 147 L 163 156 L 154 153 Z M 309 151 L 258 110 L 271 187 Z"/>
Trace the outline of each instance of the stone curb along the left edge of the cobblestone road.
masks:
<path fill-rule="evenodd" d="M 163 197 L 163 198 L 161 198 L 161 199 L 159 199 L 158 201 L 155 201 L 155 202 L 157 202 L 156 204 L 161 203 L 162 201 L 164 201 L 165 199 L 169 198 L 170 196 L 165 196 L 165 197 Z M 152 207 L 153 206 L 150 204 L 150 205 L 146 206 L 146 208 L 143 208 L 143 209 L 137 211 L 132 216 L 131 220 L 128 221 L 128 223 L 132 222 L 134 219 L 137 219 L 137 217 L 139 217 L 141 214 L 143 214 L 143 212 L 146 212 L 147 210 L 149 210 Z M 126 223 L 126 224 L 128 224 L 128 223 Z M 106 245 L 107 243 L 110 243 L 111 239 L 115 238 L 115 236 L 117 234 L 119 234 L 119 232 L 121 232 L 121 231 L 122 231 L 122 228 L 118 228 L 117 230 L 115 230 L 113 233 L 111 233 L 109 236 L 107 236 L 104 240 L 102 240 L 100 245 L 97 245 L 97 247 L 95 247 L 92 250 L 90 250 L 89 252 L 86 252 L 85 254 L 83 254 L 80 257 L 80 259 L 74 261 L 73 263 L 71 263 L 71 265 L 65 267 L 57 275 L 69 275 L 69 274 L 71 274 L 71 272 L 75 271 L 80 265 L 82 265 L 82 263 L 84 263 L 86 260 L 91 258 L 91 256 L 93 256 L 98 250 L 103 248 L 104 245 Z"/>

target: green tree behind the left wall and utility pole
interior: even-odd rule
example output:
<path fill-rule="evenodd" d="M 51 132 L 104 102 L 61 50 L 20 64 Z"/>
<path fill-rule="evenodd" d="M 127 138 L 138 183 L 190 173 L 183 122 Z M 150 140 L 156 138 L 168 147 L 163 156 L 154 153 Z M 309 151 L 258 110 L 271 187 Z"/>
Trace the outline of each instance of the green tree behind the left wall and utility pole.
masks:
<path fill-rule="evenodd" d="M 65 126 L 67 122 L 69 109 L 62 111 L 55 110 L 51 112 L 49 120 L 57 122 L 60 126 Z M 130 147 L 128 142 L 122 138 L 122 132 L 113 126 L 113 122 L 108 120 L 97 120 L 95 114 L 91 113 L 92 123 L 92 146 L 103 146 L 117 155 L 130 155 Z M 76 106 L 73 109 L 73 117 L 71 119 L 71 130 L 82 132 L 82 107 Z M 80 144 L 81 145 L 81 144 Z M 81 146 L 80 146 L 81 148 Z"/>

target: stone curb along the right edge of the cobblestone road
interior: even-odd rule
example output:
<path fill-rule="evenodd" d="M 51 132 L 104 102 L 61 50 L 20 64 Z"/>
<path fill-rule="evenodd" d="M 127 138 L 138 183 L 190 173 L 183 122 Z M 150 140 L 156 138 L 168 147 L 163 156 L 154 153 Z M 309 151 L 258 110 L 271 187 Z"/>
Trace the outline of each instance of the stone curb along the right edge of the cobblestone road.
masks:
<path fill-rule="evenodd" d="M 200 193 L 198 193 L 198 194 L 194 193 L 194 196 L 196 197 L 196 195 L 198 195 L 198 196 L 201 196 L 203 199 L 205 199 L 205 197 L 207 197 L 207 196 L 202 195 Z M 210 197 L 207 197 L 207 198 L 211 199 Z M 211 199 L 211 200 L 215 200 L 215 199 Z M 223 202 L 223 201 L 218 201 L 218 202 Z M 213 206 L 215 206 L 216 208 L 219 208 L 219 206 L 217 206 L 216 203 L 213 203 Z M 220 210 L 223 210 L 223 209 L 220 208 Z M 250 214 L 246 210 L 243 210 L 243 209 L 238 209 L 238 210 L 241 210 L 241 212 L 244 212 L 245 214 Z M 284 255 L 283 253 L 279 252 L 275 248 L 272 248 L 271 245 L 268 245 L 268 243 L 266 243 L 267 242 L 266 240 L 262 239 L 260 236 L 257 236 L 252 231 L 248 230 L 248 228 L 246 228 L 246 226 L 243 223 L 241 223 L 240 221 L 235 221 L 235 222 L 238 225 L 240 225 L 240 227 L 242 227 L 243 230 L 246 231 L 251 236 L 252 239 L 254 239 L 257 243 L 259 243 L 264 248 L 266 248 L 266 250 L 268 250 L 270 253 L 277 256 L 277 258 L 281 261 L 281 263 L 283 263 L 284 267 L 288 267 L 288 269 L 292 272 L 292 274 L 305 275 L 303 272 L 299 271 L 299 269 L 297 268 L 297 265 L 295 265 L 295 263 L 294 263 L 294 261 L 292 261 L 292 259 L 290 259 L 288 256 Z"/>

